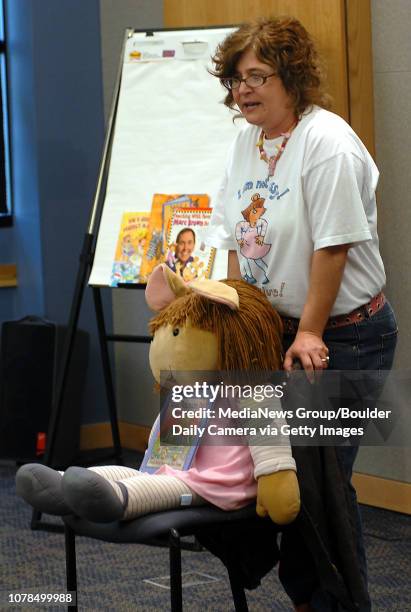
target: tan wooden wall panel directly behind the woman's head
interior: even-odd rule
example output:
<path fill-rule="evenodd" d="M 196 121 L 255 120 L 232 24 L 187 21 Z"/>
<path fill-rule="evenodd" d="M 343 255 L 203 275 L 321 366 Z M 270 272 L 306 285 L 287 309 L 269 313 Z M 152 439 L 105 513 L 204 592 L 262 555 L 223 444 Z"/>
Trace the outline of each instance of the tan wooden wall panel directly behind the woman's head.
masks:
<path fill-rule="evenodd" d="M 164 0 L 164 26 L 237 24 L 255 17 L 292 15 L 317 41 L 325 58 L 333 110 L 349 119 L 343 0 Z"/>

